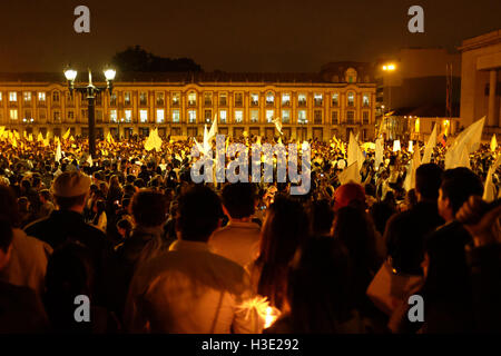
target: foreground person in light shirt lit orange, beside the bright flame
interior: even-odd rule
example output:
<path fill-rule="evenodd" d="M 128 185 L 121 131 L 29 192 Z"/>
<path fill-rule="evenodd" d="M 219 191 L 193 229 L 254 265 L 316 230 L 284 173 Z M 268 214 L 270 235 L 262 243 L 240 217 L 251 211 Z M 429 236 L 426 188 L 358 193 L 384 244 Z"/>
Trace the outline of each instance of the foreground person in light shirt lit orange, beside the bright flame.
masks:
<path fill-rule="evenodd" d="M 179 200 L 178 240 L 143 264 L 130 284 L 125 325 L 130 333 L 261 333 L 249 277 L 213 254 L 207 240 L 220 224 L 218 196 L 195 186 Z"/>

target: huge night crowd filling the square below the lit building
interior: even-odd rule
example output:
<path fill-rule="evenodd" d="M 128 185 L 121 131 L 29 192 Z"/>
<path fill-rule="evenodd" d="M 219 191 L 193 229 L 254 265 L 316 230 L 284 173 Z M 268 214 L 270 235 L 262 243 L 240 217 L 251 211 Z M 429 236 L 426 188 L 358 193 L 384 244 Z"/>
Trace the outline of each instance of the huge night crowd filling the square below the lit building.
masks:
<path fill-rule="evenodd" d="M 0 140 L 0 333 L 501 330 L 500 199 L 482 200 L 499 150 L 444 169 L 439 144 L 406 190 L 404 147 L 379 166 L 366 149 L 358 184 L 340 181 L 345 144 L 311 140 L 311 189 L 291 195 L 194 184 L 191 140 L 144 144 Z"/>

